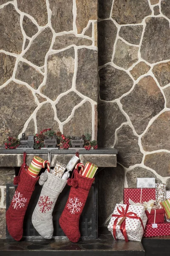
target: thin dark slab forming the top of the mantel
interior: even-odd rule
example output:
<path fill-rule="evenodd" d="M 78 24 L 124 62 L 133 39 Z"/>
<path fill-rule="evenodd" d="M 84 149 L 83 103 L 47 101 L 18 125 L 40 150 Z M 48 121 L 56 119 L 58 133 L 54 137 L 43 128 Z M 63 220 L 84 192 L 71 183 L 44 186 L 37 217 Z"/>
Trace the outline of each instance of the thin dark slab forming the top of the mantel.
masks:
<path fill-rule="evenodd" d="M 0 148 L 0 154 L 23 154 L 26 151 L 27 154 L 48 154 L 48 151 L 51 151 L 51 154 L 75 154 L 76 151 L 79 154 L 118 154 L 116 148 L 98 148 L 98 149 L 55 149 L 55 148 L 48 148 L 48 149 L 4 149 Z"/>

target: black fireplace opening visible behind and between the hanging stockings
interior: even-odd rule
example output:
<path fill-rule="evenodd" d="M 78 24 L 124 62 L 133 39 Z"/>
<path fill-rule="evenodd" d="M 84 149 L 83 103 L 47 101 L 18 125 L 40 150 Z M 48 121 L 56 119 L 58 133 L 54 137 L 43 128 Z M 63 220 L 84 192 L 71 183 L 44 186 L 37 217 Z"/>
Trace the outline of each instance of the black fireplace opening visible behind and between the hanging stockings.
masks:
<path fill-rule="evenodd" d="M 42 169 L 41 172 L 44 170 Z M 19 168 L 15 168 L 15 175 L 18 175 Z M 12 198 L 14 196 L 14 192 L 17 189 L 13 183 L 6 184 L 6 210 L 9 208 Z M 34 238 L 42 238 L 39 233 L 35 230 L 31 218 L 36 207 L 36 204 L 39 200 L 39 196 L 41 193 L 42 186 L 38 183 L 35 186 L 34 192 L 31 196 L 30 202 L 28 204 L 28 208 L 26 211 L 26 215 L 23 223 L 23 238 L 34 239 Z M 62 214 L 62 211 L 65 207 L 65 204 L 68 199 L 70 191 L 70 186 L 66 185 L 63 189 L 62 193 L 60 193 L 56 205 L 53 211 L 53 224 L 54 224 L 54 239 L 66 239 L 67 237 L 63 233 L 61 227 L 59 226 L 59 217 Z M 82 215 L 80 216 L 79 221 L 79 230 L 81 233 L 81 237 L 83 239 L 97 239 L 97 183 L 93 183 L 88 198 L 83 209 Z M 6 228 L 6 238 L 11 238 Z M 43 239 L 43 238 L 42 238 Z"/>

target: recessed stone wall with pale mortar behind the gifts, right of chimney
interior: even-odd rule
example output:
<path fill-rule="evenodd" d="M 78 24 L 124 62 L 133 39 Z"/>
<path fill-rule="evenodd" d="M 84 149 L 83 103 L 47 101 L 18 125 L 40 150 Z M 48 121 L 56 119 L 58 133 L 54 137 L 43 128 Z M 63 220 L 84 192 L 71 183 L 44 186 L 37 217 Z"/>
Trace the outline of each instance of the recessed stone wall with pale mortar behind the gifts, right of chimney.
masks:
<path fill-rule="evenodd" d="M 99 0 L 98 33 L 99 144 L 119 151 L 99 174 L 106 224 L 136 177 L 170 189 L 170 1 Z"/>

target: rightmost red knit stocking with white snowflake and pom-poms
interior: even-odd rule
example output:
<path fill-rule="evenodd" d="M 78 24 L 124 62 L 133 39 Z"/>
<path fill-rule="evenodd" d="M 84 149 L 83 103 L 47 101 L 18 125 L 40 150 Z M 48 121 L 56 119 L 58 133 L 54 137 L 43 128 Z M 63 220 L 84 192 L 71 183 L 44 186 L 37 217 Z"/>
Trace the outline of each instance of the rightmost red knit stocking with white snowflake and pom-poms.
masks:
<path fill-rule="evenodd" d="M 59 224 L 68 239 L 74 243 L 80 238 L 79 218 L 93 182 L 94 179 L 80 175 L 77 169 L 74 169 L 74 179 L 68 179 L 71 189 Z"/>

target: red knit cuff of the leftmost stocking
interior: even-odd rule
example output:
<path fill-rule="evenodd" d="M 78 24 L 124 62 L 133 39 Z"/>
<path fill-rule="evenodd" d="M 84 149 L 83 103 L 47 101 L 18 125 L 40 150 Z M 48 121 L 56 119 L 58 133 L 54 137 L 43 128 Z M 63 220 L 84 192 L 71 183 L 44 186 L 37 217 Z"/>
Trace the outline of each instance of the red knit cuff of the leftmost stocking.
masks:
<path fill-rule="evenodd" d="M 23 168 L 20 175 L 20 182 L 18 186 L 20 186 L 20 188 L 28 192 L 33 192 L 37 180 L 39 180 L 39 176 L 34 178 L 31 175 L 29 175 L 28 172 L 26 172 L 26 170 Z"/>

